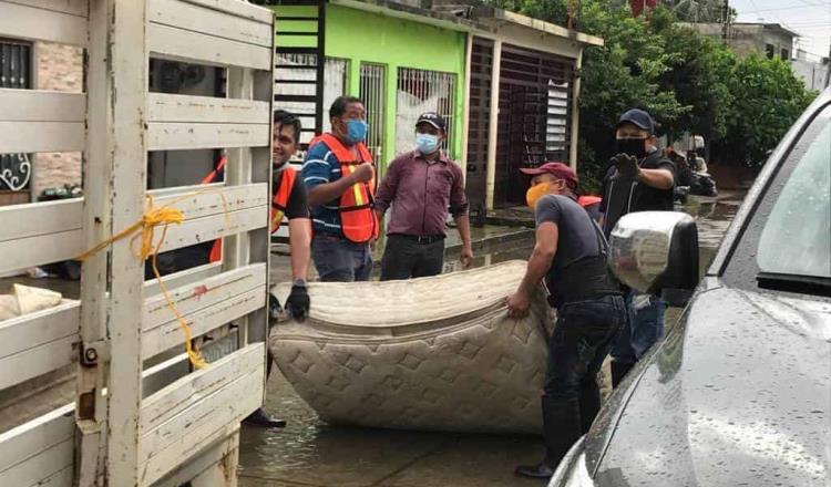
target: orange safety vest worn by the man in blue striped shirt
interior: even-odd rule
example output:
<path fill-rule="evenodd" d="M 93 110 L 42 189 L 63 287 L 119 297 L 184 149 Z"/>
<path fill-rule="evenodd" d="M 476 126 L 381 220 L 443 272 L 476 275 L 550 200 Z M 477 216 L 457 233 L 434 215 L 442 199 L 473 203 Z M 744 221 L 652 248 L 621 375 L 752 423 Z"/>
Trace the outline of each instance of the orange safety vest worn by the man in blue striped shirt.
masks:
<path fill-rule="evenodd" d="M 317 143 L 324 143 L 329 151 L 335 153 L 340 164 L 340 176 L 346 177 L 363 164 L 373 164 L 372 155 L 363 143 L 356 147 L 360 155 L 360 160 L 355 160 L 352 153 L 343 146 L 331 134 L 324 134 L 316 137 L 309 146 Z M 378 217 L 372 209 L 375 203 L 375 177 L 368 183 L 357 183 L 340 195 L 340 228 L 343 236 L 356 244 L 366 244 L 373 238 L 378 238 L 379 225 Z"/>

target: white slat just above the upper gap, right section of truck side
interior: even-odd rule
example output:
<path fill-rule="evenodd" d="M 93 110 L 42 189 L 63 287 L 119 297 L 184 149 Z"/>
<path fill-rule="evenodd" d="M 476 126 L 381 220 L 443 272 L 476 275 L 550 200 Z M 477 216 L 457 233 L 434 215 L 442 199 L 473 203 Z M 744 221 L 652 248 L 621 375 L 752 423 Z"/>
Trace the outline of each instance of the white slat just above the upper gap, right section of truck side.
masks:
<path fill-rule="evenodd" d="M 271 50 L 268 48 L 157 23 L 147 24 L 147 50 L 155 58 L 175 61 L 264 71 L 271 69 Z"/>

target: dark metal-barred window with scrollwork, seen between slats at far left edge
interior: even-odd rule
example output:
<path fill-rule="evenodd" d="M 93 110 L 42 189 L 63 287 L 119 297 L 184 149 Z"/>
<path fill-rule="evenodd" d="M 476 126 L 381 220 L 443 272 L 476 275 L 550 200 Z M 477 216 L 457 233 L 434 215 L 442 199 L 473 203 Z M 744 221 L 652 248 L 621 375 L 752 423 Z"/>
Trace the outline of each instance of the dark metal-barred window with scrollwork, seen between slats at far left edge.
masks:
<path fill-rule="evenodd" d="M 32 44 L 0 39 L 0 89 L 32 89 Z M 32 164 L 29 154 L 0 154 L 0 190 L 29 187 Z"/>

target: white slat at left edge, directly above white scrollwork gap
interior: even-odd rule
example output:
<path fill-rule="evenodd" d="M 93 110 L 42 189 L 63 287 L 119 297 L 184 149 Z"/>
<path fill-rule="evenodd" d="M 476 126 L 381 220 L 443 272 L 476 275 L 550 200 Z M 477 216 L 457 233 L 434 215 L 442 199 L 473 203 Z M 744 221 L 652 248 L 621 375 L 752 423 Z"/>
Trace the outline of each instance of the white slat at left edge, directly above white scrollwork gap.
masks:
<path fill-rule="evenodd" d="M 0 6 L 1 7 L 1 6 Z M 3 19 L 0 15 L 0 19 Z M 82 122 L 2 122 L 0 153 L 82 152 Z"/>

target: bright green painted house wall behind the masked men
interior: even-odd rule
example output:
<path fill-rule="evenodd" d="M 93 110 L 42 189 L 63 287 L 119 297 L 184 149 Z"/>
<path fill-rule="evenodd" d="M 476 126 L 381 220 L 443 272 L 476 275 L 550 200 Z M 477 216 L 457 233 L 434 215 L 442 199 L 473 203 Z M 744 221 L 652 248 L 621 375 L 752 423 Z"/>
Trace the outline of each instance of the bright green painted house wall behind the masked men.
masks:
<path fill-rule="evenodd" d="M 308 7 L 277 7 L 280 15 L 310 14 Z M 314 30 L 299 27 L 294 30 Z M 280 37 L 279 45 L 302 45 L 304 37 Z M 308 44 L 306 44 L 308 45 Z M 349 60 L 347 92 L 360 94 L 360 64 L 387 66 L 387 103 L 383 154 L 393 154 L 396 144 L 396 104 L 398 69 L 442 71 L 456 75 L 454 141 L 451 156 L 462 153 L 462 120 L 464 114 L 465 33 L 450 31 L 419 22 L 396 19 L 341 6 L 328 6 L 326 14 L 326 55 Z M 384 160 L 384 164 L 389 160 Z"/>

